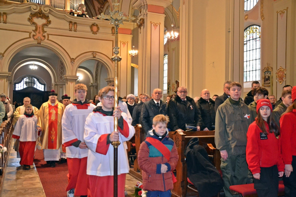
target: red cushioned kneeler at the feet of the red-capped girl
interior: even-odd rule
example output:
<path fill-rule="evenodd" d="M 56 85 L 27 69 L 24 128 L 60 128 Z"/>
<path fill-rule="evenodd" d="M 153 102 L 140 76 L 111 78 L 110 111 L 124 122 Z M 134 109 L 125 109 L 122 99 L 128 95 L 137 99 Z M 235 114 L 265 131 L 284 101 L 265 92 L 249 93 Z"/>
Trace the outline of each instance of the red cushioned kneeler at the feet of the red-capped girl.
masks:
<path fill-rule="evenodd" d="M 255 197 L 257 196 L 257 192 L 254 189 L 254 183 L 251 184 L 244 184 L 244 185 L 231 185 L 229 187 L 231 193 L 240 193 L 244 197 Z M 234 192 L 233 192 L 234 191 Z M 285 193 L 285 186 L 283 181 L 279 181 L 279 192 L 278 196 L 284 196 Z"/>

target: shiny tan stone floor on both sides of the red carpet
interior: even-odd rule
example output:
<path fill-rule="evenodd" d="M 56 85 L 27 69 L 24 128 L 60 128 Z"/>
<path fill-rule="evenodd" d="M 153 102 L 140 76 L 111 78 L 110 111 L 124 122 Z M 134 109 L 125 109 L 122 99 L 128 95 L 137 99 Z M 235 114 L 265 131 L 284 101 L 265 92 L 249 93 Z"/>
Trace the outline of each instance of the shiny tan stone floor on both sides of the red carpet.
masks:
<path fill-rule="evenodd" d="M 4 173 L 3 188 L 1 190 L 1 197 L 46 197 L 41 181 L 39 179 L 35 164 L 31 166 L 30 170 L 23 170 L 20 166 L 20 159 L 17 158 L 17 154 L 13 149 L 12 140 L 8 164 Z M 134 193 L 134 186 L 137 183 L 137 179 L 133 176 L 126 175 L 126 191 L 130 197 Z M 67 194 L 65 193 L 65 197 Z M 49 197 L 49 196 L 47 196 Z"/>

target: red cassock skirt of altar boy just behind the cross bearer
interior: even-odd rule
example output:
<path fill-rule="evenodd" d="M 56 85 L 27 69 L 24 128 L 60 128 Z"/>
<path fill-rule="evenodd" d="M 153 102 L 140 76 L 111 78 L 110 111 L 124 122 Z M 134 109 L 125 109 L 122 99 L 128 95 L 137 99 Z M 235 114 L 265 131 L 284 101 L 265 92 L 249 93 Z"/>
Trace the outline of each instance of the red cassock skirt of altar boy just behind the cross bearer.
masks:
<path fill-rule="evenodd" d="M 88 180 L 86 175 L 87 157 L 67 158 L 68 186 L 66 191 L 75 188 L 75 196 L 84 196 L 88 193 Z"/>

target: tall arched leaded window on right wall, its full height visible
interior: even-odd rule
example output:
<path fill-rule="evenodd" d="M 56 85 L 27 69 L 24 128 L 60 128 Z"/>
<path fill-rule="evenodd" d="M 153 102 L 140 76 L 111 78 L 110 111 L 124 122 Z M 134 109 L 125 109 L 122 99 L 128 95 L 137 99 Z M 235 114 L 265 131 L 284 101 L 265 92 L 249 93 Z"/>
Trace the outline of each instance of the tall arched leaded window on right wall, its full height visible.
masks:
<path fill-rule="evenodd" d="M 260 26 L 244 30 L 244 82 L 260 80 Z"/>

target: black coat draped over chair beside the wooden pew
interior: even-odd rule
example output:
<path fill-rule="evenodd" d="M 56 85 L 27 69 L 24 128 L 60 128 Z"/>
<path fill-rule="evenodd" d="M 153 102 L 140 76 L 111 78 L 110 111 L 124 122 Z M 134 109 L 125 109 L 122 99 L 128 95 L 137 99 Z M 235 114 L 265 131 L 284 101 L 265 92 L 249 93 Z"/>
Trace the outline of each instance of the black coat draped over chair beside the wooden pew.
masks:
<path fill-rule="evenodd" d="M 199 145 L 198 138 L 192 138 L 184 152 L 187 163 L 187 177 L 197 188 L 201 197 L 215 196 L 224 186 L 218 170 L 210 162 L 207 151 Z"/>

